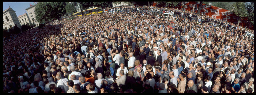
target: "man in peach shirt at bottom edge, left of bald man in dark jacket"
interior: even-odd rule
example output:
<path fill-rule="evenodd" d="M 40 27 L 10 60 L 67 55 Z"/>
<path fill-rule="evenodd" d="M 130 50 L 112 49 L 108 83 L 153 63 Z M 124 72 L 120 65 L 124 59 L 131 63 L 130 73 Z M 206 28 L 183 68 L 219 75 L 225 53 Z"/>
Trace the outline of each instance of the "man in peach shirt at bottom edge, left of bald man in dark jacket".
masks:
<path fill-rule="evenodd" d="M 179 78 L 177 78 L 177 82 L 178 82 L 177 90 L 179 91 L 179 93 L 184 93 L 185 91 L 187 80 L 184 77 L 185 77 L 185 74 L 181 72 L 179 75 Z"/>

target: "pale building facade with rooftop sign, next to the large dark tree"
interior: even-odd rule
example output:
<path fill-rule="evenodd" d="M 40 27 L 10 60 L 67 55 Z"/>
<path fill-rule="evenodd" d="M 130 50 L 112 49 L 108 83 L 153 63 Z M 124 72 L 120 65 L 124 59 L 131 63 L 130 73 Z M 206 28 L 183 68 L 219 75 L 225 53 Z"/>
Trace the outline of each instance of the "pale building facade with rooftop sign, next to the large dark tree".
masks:
<path fill-rule="evenodd" d="M 35 5 L 31 5 L 29 8 L 26 8 L 26 11 L 27 11 L 27 15 L 29 16 L 29 19 L 30 19 L 30 21 L 31 21 L 31 24 L 35 24 L 36 26 L 38 26 L 39 25 L 39 22 L 37 22 L 36 20 L 35 20 L 35 6 L 36 6 L 37 4 L 35 4 Z"/>

